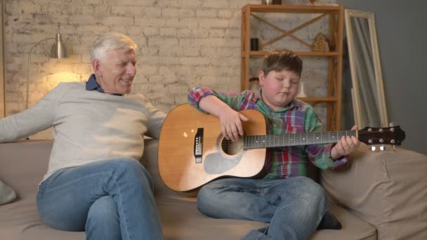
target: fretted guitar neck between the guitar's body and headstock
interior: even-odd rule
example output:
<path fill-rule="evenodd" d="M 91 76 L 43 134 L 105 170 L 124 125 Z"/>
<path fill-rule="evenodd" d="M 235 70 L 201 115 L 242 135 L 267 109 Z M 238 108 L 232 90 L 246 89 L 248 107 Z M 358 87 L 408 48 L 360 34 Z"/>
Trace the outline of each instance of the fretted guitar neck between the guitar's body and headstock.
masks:
<path fill-rule="evenodd" d="M 296 133 L 283 135 L 245 135 L 243 137 L 244 149 L 255 149 L 264 147 L 287 147 L 301 145 L 328 144 L 338 142 L 343 136 L 355 136 L 358 131 L 334 131 L 320 133 Z"/>

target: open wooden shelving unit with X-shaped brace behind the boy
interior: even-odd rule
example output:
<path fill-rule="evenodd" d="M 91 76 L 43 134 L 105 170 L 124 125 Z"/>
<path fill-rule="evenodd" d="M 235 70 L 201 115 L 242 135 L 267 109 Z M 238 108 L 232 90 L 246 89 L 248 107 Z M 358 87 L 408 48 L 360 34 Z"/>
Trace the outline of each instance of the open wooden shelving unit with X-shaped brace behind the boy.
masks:
<path fill-rule="evenodd" d="M 283 13 L 283 14 L 298 14 L 298 13 L 319 13 L 313 19 L 303 22 L 298 27 L 290 30 L 284 30 L 277 25 L 272 24 L 268 20 L 261 18 L 256 13 Z M 324 57 L 328 60 L 328 80 L 327 80 L 327 96 L 326 97 L 308 97 L 301 98 L 311 105 L 317 105 L 320 102 L 326 102 L 327 105 L 327 131 L 341 130 L 341 75 L 343 66 L 343 6 L 287 6 L 287 5 L 254 5 L 248 4 L 242 8 L 242 65 L 240 73 L 241 90 L 249 89 L 249 60 L 264 56 L 267 51 L 262 51 L 265 46 L 268 46 L 275 41 L 280 41 L 284 37 L 291 37 L 295 41 L 305 46 L 310 46 L 309 43 L 294 36 L 294 32 L 303 29 L 317 20 L 329 18 L 329 33 L 327 38 L 330 40 L 330 45 L 334 46 L 331 51 L 296 51 L 300 56 L 304 57 Z M 260 43 L 260 51 L 251 51 L 251 18 L 255 18 L 263 22 L 265 25 L 276 29 L 280 35 Z"/>

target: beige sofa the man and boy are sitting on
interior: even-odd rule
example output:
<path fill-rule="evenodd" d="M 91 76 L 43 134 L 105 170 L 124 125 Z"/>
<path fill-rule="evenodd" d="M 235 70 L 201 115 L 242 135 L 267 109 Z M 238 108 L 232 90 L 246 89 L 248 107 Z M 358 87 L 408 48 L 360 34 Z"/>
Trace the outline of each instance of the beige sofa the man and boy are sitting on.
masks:
<path fill-rule="evenodd" d="M 51 141 L 0 144 L 0 180 L 18 199 L 0 206 L 0 239 L 85 239 L 44 225 L 36 208 L 37 185 L 46 172 Z M 341 230 L 318 230 L 311 239 L 427 239 L 427 156 L 397 149 L 369 152 L 360 147 L 348 166 L 322 171 Z M 241 239 L 265 223 L 219 220 L 197 211 L 195 194 L 172 192 L 157 169 L 157 140 L 146 140 L 142 164 L 155 180 L 165 239 Z"/>

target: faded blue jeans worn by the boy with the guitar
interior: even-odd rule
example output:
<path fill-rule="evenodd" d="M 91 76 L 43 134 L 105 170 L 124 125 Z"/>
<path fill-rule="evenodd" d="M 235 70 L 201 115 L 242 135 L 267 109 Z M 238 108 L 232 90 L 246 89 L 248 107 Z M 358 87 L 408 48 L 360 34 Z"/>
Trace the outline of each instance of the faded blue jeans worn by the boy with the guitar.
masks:
<path fill-rule="evenodd" d="M 327 194 L 306 177 L 283 180 L 227 178 L 200 189 L 199 211 L 212 218 L 270 222 L 244 239 L 308 239 L 327 212 Z"/>

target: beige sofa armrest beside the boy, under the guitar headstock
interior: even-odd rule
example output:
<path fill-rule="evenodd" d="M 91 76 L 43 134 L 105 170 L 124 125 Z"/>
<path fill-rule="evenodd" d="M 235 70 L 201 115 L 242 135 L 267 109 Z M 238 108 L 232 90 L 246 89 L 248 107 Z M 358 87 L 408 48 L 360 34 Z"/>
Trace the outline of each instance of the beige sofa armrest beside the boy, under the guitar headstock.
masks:
<path fill-rule="evenodd" d="M 379 239 L 427 239 L 427 156 L 361 145 L 320 181 L 336 204 L 375 225 Z"/>

